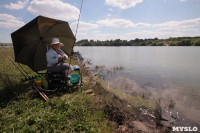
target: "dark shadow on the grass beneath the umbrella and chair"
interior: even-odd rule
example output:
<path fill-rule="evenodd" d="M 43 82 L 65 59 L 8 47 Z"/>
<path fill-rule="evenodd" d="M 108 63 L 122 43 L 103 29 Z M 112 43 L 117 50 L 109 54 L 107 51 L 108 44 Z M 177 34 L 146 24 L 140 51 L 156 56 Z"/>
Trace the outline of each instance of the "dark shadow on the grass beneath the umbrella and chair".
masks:
<path fill-rule="evenodd" d="M 39 98 L 44 100 L 40 94 L 32 87 L 31 82 L 17 82 L 13 81 L 9 77 L 1 78 L 1 87 L 0 87 L 0 108 L 4 108 L 8 105 L 10 101 L 16 101 L 20 95 L 26 95 L 31 91 L 31 95 L 26 95 L 30 98 Z M 47 92 L 43 91 L 49 98 L 60 97 L 64 94 L 72 94 L 79 91 L 80 87 L 65 87 L 57 89 L 56 91 Z M 44 89 L 45 90 L 45 89 Z"/>

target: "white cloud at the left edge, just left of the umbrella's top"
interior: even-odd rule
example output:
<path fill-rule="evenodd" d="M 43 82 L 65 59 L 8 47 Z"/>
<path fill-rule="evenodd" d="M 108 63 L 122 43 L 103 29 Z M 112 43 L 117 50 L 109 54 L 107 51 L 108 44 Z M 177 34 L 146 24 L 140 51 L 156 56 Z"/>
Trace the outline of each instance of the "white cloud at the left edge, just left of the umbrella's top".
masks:
<path fill-rule="evenodd" d="M 0 27 L 2 28 L 19 28 L 25 23 L 19 21 L 18 18 L 9 14 L 0 14 Z"/>

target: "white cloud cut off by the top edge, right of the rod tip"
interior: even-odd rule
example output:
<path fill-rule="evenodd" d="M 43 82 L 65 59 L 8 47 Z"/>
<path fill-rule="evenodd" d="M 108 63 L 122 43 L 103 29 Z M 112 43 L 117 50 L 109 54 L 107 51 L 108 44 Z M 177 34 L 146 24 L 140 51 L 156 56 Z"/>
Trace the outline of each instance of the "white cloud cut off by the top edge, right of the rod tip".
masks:
<path fill-rule="evenodd" d="M 106 0 L 106 4 L 121 9 L 127 9 L 135 7 L 136 4 L 141 3 L 142 1 L 143 0 Z"/>

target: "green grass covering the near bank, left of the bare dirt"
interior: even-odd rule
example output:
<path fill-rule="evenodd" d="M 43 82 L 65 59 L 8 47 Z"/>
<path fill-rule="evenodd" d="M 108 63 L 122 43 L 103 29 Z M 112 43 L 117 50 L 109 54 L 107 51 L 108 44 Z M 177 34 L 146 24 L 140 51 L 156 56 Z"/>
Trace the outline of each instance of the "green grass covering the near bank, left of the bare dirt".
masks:
<path fill-rule="evenodd" d="M 14 61 L 13 49 L 4 50 Z M 48 95 L 50 101 L 45 102 L 31 89 L 32 81 L 20 82 L 23 76 L 7 56 L 0 54 L 0 132 L 112 132 L 113 124 L 94 98 L 63 91 Z"/>

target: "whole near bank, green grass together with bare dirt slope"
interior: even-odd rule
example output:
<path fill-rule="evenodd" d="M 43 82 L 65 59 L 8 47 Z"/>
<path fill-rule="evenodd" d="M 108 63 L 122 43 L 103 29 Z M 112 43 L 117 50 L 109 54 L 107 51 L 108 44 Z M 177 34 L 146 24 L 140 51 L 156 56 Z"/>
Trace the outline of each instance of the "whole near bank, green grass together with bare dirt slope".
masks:
<path fill-rule="evenodd" d="M 13 49 L 4 49 L 13 60 Z M 167 132 L 159 125 L 155 101 L 129 96 L 80 64 L 83 91 L 67 88 L 47 94 L 49 102 L 20 82 L 22 74 L 0 54 L 0 132 Z M 35 75 L 28 67 L 22 67 Z M 91 90 L 91 94 L 86 91 Z M 123 95 L 122 95 L 123 94 Z M 155 106 L 153 105 L 155 104 Z M 150 114 L 150 112 L 154 114 Z"/>

